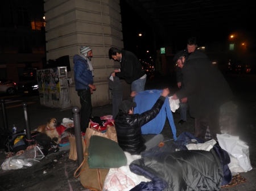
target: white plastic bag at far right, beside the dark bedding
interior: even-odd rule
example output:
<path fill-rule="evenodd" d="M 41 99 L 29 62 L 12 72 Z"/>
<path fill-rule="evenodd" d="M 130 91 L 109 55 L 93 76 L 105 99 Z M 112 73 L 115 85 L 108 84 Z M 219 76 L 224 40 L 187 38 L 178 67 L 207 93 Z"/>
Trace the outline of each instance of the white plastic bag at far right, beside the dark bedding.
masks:
<path fill-rule="evenodd" d="M 240 167 L 245 171 L 252 169 L 249 158 L 249 146 L 245 142 L 241 141 L 239 137 L 229 134 L 217 134 L 217 139 L 220 147 L 238 160 Z"/>

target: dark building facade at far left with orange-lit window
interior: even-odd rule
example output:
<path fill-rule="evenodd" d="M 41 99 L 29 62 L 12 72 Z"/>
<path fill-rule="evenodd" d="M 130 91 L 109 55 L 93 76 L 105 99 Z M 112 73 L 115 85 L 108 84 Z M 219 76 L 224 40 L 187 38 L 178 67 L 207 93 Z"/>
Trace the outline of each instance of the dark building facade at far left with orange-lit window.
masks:
<path fill-rule="evenodd" d="M 0 78 L 34 80 L 46 59 L 43 0 L 2 1 Z"/>

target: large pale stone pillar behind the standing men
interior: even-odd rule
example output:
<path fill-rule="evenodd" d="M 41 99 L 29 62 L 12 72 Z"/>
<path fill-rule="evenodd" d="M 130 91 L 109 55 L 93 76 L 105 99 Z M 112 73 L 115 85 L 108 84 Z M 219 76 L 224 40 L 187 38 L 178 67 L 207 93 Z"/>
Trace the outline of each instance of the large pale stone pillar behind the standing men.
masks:
<path fill-rule="evenodd" d="M 75 90 L 73 56 L 80 54 L 80 46 L 93 50 L 94 85 L 92 104 L 110 103 L 109 74 L 119 68 L 119 63 L 109 60 L 112 46 L 123 48 L 119 0 L 44 0 L 46 11 L 47 60 L 69 55 L 73 83 L 69 88 L 71 106 L 80 105 Z M 129 87 L 128 84 L 126 84 Z"/>

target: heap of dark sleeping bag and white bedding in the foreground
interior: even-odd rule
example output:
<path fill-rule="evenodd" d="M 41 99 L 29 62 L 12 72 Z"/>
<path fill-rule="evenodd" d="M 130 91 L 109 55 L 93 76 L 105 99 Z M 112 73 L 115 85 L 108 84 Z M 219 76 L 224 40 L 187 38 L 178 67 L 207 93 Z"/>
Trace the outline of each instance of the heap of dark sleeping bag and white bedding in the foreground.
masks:
<path fill-rule="evenodd" d="M 187 132 L 141 155 L 125 154 L 127 165 L 110 169 L 104 190 L 220 190 L 232 181 L 228 152 Z"/>

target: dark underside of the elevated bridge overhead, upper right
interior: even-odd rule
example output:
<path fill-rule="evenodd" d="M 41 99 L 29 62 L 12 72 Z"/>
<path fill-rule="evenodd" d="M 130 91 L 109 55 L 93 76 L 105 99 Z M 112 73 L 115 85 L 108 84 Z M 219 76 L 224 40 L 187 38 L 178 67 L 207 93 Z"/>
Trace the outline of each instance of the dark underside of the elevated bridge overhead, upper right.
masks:
<path fill-rule="evenodd" d="M 256 1 L 125 0 L 166 41 L 185 44 L 195 36 L 201 44 L 219 40 L 234 29 L 254 23 Z"/>

